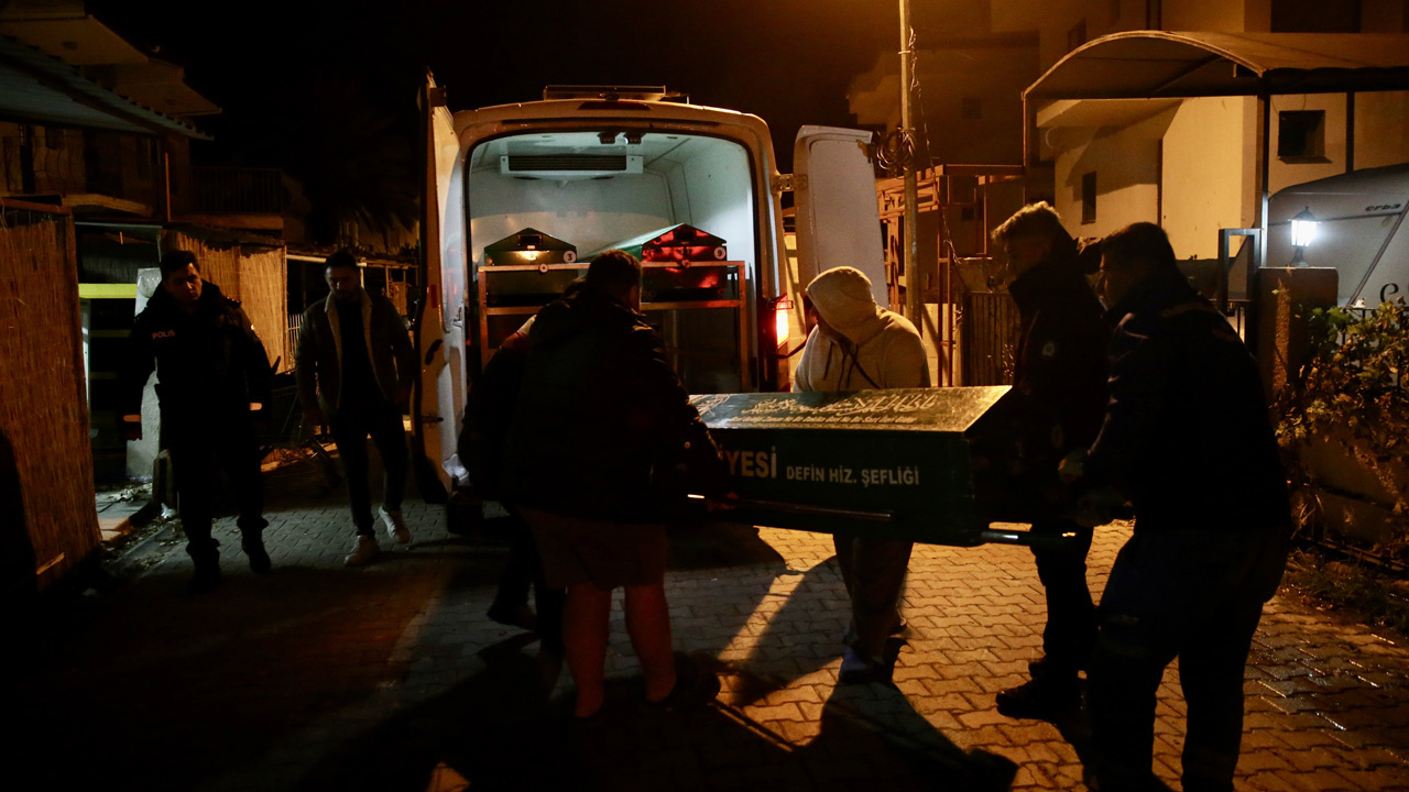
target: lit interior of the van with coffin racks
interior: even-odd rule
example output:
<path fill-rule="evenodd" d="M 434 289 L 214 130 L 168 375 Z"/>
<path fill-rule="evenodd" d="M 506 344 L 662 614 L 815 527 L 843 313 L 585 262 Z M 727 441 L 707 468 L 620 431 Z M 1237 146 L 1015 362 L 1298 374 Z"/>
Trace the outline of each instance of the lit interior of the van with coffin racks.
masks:
<path fill-rule="evenodd" d="M 648 262 L 643 311 L 692 393 L 741 390 L 759 235 L 752 168 L 737 142 L 674 131 L 530 132 L 480 142 L 466 169 L 471 278 L 488 303 L 479 306 L 488 314 L 480 348 L 497 347 L 585 273 L 596 252 L 689 224 L 721 237 L 726 261 Z M 526 228 L 571 242 L 578 261 L 496 271 L 485 247 Z"/>

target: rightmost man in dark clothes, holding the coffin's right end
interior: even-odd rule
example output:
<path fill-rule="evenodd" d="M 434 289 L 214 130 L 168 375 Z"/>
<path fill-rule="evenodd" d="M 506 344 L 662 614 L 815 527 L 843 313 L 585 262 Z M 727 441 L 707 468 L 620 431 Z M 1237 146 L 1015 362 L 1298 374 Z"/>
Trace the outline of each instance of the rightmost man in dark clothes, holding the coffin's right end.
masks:
<path fill-rule="evenodd" d="M 1286 562 L 1289 507 L 1257 366 L 1136 223 L 1102 245 L 1110 400 L 1089 458 L 1064 464 L 1129 497 L 1134 536 L 1100 598 L 1089 706 L 1102 792 L 1154 788 L 1155 691 L 1179 658 L 1184 789 L 1233 789 L 1243 674 Z"/>

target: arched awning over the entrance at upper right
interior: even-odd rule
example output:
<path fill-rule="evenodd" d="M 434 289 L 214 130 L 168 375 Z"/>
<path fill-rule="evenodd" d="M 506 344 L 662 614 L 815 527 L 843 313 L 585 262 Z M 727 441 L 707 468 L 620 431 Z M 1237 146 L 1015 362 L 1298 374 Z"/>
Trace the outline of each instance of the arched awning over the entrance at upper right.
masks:
<path fill-rule="evenodd" d="M 1409 90 L 1409 35 L 1129 31 L 1084 44 L 1023 99 Z"/>

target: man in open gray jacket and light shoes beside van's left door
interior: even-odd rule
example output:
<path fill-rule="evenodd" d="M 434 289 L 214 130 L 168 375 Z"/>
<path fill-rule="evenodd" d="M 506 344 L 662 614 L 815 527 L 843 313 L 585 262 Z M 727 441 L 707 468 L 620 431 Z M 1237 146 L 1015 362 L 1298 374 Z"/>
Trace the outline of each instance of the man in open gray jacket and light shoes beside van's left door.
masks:
<path fill-rule="evenodd" d="M 352 254 L 328 256 L 324 275 L 333 293 L 303 313 L 294 376 L 309 424 L 327 420 L 338 444 L 358 534 L 345 562 L 361 567 L 380 552 L 368 492 L 368 435 L 386 471 L 379 510 L 386 533 L 397 544 L 411 541 L 402 519 L 409 468 L 402 410 L 418 366 L 406 321 L 390 300 L 362 289 Z"/>

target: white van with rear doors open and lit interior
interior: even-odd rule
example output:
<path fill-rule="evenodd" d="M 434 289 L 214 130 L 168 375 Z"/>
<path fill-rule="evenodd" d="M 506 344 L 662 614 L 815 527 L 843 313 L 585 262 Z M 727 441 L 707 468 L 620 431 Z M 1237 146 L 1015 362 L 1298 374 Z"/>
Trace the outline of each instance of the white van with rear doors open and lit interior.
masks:
<path fill-rule="evenodd" d="M 424 366 L 413 400 L 427 500 L 440 495 L 434 481 L 444 493 L 465 483 L 455 447 L 483 361 L 595 251 L 679 224 L 723 240 L 721 258 L 647 262 L 643 313 L 692 393 L 786 389 L 803 341 L 800 287 L 823 269 L 862 269 L 886 304 L 871 132 L 805 127 L 789 176 L 761 118 L 664 89 L 548 89 L 542 101 L 454 116 L 442 97 L 428 78 Z M 783 247 L 789 189 L 796 265 Z M 526 254 L 538 235 L 552 240 L 552 264 L 486 256 L 516 234 Z"/>

